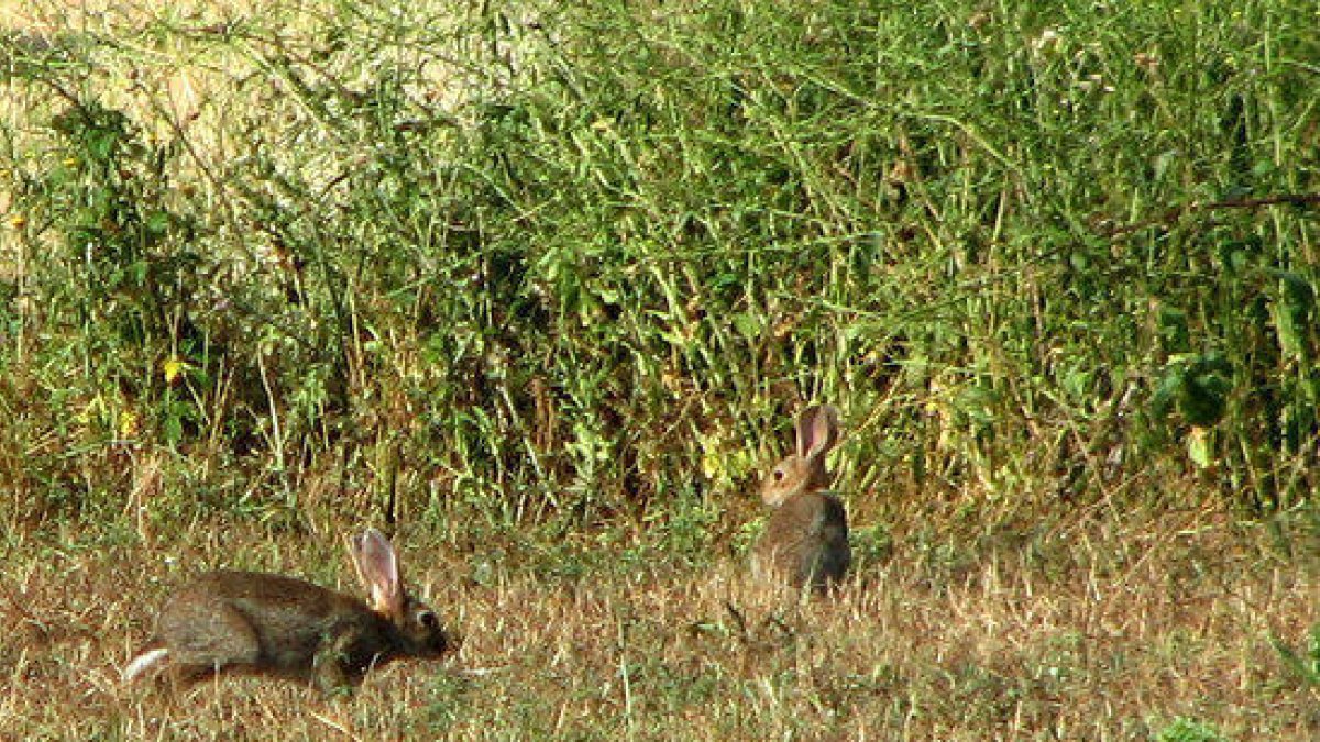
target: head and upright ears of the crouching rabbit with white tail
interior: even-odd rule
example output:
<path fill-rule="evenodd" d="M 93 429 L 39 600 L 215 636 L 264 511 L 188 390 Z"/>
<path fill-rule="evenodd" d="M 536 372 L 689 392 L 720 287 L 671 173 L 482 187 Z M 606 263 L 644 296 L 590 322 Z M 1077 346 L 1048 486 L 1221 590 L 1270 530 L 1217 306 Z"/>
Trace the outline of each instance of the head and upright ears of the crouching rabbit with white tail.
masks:
<path fill-rule="evenodd" d="M 350 553 L 370 599 L 371 610 L 396 630 L 400 651 L 414 658 L 437 658 L 449 648 L 449 636 L 436 611 L 413 598 L 403 585 L 399 557 L 385 536 L 368 528 L 351 540 Z"/>

